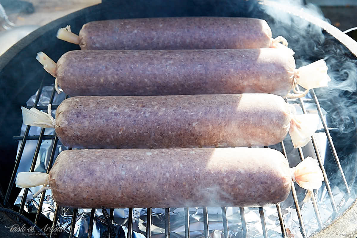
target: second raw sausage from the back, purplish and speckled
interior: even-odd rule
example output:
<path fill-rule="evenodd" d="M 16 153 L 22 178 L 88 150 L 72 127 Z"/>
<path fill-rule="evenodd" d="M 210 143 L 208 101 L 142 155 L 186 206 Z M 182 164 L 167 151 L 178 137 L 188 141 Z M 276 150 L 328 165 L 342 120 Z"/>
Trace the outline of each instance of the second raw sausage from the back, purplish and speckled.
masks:
<path fill-rule="evenodd" d="M 46 59 L 42 52 L 38 59 Z M 294 85 L 295 60 L 278 49 L 69 51 L 51 74 L 70 96 L 272 93 Z"/>

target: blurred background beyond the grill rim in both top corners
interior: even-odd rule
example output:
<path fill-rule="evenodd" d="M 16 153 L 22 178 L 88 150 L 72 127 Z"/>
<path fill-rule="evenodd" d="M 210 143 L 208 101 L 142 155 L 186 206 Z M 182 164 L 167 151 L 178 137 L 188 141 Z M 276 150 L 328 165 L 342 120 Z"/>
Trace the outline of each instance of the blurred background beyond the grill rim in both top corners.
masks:
<path fill-rule="evenodd" d="M 300 2 L 319 7 L 330 23 L 341 31 L 357 27 L 357 0 L 300 0 Z M 38 27 L 99 3 L 101 0 L 0 0 L 0 55 Z"/>

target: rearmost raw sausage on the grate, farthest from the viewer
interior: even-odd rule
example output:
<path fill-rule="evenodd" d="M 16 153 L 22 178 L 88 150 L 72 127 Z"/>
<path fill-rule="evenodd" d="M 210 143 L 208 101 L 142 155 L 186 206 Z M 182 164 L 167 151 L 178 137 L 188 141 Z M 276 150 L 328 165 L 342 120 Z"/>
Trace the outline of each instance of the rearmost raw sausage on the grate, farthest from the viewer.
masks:
<path fill-rule="evenodd" d="M 267 22 L 243 17 L 158 17 L 92 21 L 57 38 L 82 50 L 254 49 L 276 47 Z M 282 38 L 282 37 L 281 37 Z M 282 42 L 287 45 L 285 39 Z"/>

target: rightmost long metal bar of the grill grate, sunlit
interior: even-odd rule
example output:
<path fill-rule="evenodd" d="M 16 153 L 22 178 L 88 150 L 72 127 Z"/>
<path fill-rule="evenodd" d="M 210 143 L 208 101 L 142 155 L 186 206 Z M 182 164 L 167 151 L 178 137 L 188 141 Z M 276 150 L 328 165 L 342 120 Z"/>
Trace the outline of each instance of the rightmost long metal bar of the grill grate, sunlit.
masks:
<path fill-rule="evenodd" d="M 327 129 L 327 123 L 326 123 L 325 118 L 323 117 L 321 106 L 320 106 L 320 102 L 318 102 L 318 100 L 317 100 L 315 91 L 313 89 L 311 89 L 310 92 L 311 92 L 311 95 L 313 97 L 313 100 L 315 101 L 315 104 L 316 104 L 316 107 L 317 107 L 317 112 L 318 112 L 318 115 L 320 115 L 320 119 L 322 121 L 323 128 L 325 128 L 325 133 L 326 133 L 326 136 L 327 136 L 327 142 L 328 142 L 328 145 L 330 146 L 333 158 L 335 159 L 335 162 L 337 164 L 337 168 L 338 168 L 338 170 L 340 170 L 340 173 L 341 173 L 341 176 L 342 176 L 342 181 L 343 181 L 343 183 L 345 185 L 345 188 L 346 188 L 346 192 L 349 195 L 351 195 L 351 191 L 350 191 L 350 188 L 348 187 L 348 184 L 347 184 L 347 181 L 346 181 L 346 177 L 345 177 L 345 173 L 342 170 L 340 159 L 338 158 L 335 145 L 333 145 L 333 142 L 332 142 L 332 137 L 330 135 L 330 131 L 328 131 L 328 129 Z"/>

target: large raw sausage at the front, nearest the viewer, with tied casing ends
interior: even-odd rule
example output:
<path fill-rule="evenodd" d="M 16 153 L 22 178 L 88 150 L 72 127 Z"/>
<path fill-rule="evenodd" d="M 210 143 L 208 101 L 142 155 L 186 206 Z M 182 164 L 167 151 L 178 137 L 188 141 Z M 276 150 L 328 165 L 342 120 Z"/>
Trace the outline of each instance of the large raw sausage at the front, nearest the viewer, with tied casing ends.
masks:
<path fill-rule="evenodd" d="M 291 170 L 269 148 L 69 150 L 36 185 L 49 184 L 54 201 L 67 208 L 261 207 L 288 197 L 292 174 L 298 183 L 316 183 L 305 188 L 320 188 L 316 160 L 305 163 L 312 166 Z M 21 176 L 17 186 L 35 185 Z"/>

